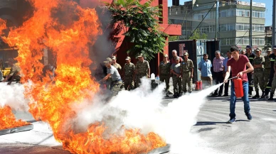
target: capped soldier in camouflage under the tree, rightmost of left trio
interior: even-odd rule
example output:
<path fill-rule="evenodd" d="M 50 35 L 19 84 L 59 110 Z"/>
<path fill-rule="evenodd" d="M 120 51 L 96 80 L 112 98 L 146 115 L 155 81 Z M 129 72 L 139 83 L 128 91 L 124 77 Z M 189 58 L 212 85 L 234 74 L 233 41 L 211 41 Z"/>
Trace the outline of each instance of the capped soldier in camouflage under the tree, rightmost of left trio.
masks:
<path fill-rule="evenodd" d="M 138 55 L 139 61 L 135 65 L 135 75 L 136 75 L 136 87 L 139 87 L 139 84 L 141 83 L 142 77 L 148 77 L 149 78 L 149 62 L 147 60 L 144 60 L 143 54 L 141 53 Z"/>

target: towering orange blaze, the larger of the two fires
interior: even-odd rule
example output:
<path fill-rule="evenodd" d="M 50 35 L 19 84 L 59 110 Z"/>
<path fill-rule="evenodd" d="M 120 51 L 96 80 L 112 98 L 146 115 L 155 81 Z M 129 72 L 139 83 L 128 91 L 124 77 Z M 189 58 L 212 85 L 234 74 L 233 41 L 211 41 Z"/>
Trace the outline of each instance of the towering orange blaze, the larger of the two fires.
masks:
<path fill-rule="evenodd" d="M 18 50 L 18 64 L 23 79 L 31 82 L 26 97 L 36 119 L 50 123 L 55 139 L 71 153 L 142 153 L 166 143 L 156 133 L 142 134 L 139 129 L 125 129 L 123 135 L 104 138 L 104 122 L 92 123 L 83 133 L 76 133 L 72 104 L 92 101 L 99 84 L 90 75 L 89 45 L 101 34 L 95 9 L 83 9 L 70 0 L 28 0 L 35 11 L 23 26 L 11 28 L 4 41 Z M 70 11 L 68 11 L 70 10 Z M 58 17 L 58 12 L 66 16 Z M 67 11 L 67 12 L 66 12 Z M 56 17 L 55 17 L 56 16 Z M 3 26 L 3 21 L 0 21 Z M 3 30 L 4 28 L 0 28 Z M 57 69 L 55 79 L 42 77 L 43 49 L 53 50 Z"/>

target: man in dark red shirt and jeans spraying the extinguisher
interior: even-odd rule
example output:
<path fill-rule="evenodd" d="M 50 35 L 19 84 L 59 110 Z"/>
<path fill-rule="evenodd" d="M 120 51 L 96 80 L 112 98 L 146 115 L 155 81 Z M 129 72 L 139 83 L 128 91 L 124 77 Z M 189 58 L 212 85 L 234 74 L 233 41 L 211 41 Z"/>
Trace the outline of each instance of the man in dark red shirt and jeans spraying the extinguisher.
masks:
<path fill-rule="evenodd" d="M 240 77 L 243 79 L 243 104 L 245 115 L 248 117 L 248 120 L 252 119 L 250 114 L 250 103 L 248 99 L 248 76 L 247 73 L 253 72 L 254 68 L 248 60 L 248 57 L 245 55 L 240 55 L 239 49 L 237 46 L 232 46 L 230 48 L 233 58 L 227 62 L 227 72 L 224 77 L 224 83 L 227 82 L 227 79 L 232 71 L 232 77 Z M 248 69 L 246 69 L 248 67 Z M 233 80 L 231 81 L 231 97 L 230 97 L 230 120 L 227 123 L 235 122 L 235 102 L 237 98 L 235 97 L 235 88 Z"/>

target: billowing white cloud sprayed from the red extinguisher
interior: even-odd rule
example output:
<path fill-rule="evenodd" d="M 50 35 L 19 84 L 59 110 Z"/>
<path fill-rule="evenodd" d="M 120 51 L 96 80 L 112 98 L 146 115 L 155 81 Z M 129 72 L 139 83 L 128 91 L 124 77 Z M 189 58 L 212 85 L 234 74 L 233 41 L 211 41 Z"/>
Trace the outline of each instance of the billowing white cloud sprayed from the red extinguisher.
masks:
<path fill-rule="evenodd" d="M 196 124 L 196 116 L 205 97 L 220 86 L 218 84 L 201 92 L 184 95 L 164 106 L 164 84 L 152 92 L 150 80 L 142 79 L 141 87 L 131 92 L 120 92 L 108 104 L 103 104 L 102 99 L 97 97 L 91 106 L 84 104 L 75 108 L 78 125 L 85 129 L 89 123 L 105 121 L 107 134 L 121 134 L 122 126 L 140 128 L 145 134 L 158 133 L 166 143 L 171 144 L 172 153 L 212 153 L 211 150 L 198 147 L 200 139 L 190 130 Z"/>

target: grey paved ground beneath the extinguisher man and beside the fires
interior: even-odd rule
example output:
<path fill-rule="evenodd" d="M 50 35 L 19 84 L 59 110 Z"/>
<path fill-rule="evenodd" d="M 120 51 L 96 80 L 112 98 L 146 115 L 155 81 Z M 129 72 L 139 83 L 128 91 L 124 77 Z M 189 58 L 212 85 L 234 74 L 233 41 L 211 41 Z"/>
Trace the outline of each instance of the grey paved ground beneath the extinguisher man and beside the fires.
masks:
<path fill-rule="evenodd" d="M 217 153 L 275 153 L 276 151 L 276 102 L 250 99 L 253 120 L 248 121 L 243 113 L 243 102 L 236 105 L 236 122 L 226 124 L 229 113 L 229 97 L 208 97 L 197 116 L 197 123 L 191 132 L 198 134 L 202 146 Z M 164 99 L 166 106 L 173 99 Z M 187 106 L 189 107 L 189 106 Z M 17 112 L 16 116 L 33 121 L 30 114 Z M 34 122 L 32 131 L 0 136 L 0 153 L 4 154 L 63 154 L 59 143 L 56 143 L 48 125 Z"/>

